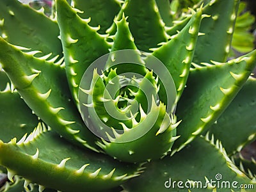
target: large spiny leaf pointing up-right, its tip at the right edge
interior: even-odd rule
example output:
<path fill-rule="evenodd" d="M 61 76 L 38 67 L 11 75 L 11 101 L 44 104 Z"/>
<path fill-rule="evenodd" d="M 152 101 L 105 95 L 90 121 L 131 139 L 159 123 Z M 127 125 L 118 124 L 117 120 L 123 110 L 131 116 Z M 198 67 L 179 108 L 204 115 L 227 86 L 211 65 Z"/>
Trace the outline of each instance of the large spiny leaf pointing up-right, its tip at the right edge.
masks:
<path fill-rule="evenodd" d="M 234 99 L 256 65 L 256 51 L 241 58 L 217 63 L 195 65 L 189 73 L 188 83 L 177 104 L 176 115 L 182 122 L 175 150 L 181 150 L 193 139 L 207 131 Z"/>

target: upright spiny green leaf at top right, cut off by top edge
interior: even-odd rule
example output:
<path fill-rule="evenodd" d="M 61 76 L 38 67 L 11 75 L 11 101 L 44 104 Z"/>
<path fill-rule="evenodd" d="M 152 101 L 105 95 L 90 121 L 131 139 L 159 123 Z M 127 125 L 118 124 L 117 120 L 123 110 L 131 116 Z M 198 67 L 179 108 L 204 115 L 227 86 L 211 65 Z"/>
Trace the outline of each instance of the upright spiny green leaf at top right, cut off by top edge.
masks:
<path fill-rule="evenodd" d="M 202 20 L 200 33 L 205 35 L 198 37 L 193 62 L 227 60 L 238 5 L 239 0 L 214 0 L 205 6 L 203 13 L 211 17 Z"/>

